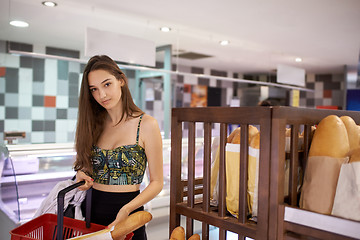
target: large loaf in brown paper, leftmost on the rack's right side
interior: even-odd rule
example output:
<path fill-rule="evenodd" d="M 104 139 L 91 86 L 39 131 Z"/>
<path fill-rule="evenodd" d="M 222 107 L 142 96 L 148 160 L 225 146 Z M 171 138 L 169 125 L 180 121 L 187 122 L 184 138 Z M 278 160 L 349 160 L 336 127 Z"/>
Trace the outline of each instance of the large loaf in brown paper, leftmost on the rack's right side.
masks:
<path fill-rule="evenodd" d="M 309 157 L 328 156 L 344 158 L 350 150 L 345 124 L 335 115 L 322 119 L 314 133 Z"/>

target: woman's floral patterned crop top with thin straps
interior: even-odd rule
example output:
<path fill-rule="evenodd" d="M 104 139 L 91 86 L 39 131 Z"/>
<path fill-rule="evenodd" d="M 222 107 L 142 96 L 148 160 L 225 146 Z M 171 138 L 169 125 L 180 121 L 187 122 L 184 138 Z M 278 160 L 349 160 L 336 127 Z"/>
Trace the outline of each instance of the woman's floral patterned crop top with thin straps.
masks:
<path fill-rule="evenodd" d="M 112 150 L 93 146 L 91 161 L 94 182 L 106 185 L 135 185 L 142 182 L 147 163 L 145 149 L 139 145 L 142 117 L 137 127 L 136 144 Z"/>

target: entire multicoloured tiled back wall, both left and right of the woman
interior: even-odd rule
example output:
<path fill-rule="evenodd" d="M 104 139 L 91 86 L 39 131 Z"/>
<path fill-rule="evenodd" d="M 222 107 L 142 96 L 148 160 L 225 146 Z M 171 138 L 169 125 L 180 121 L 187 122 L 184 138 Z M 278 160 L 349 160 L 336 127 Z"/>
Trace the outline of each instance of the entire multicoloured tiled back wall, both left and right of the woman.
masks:
<path fill-rule="evenodd" d="M 12 43 L 13 50 L 32 52 L 32 45 Z M 24 131 L 26 138 L 18 143 L 72 142 L 76 128 L 78 93 L 84 64 L 55 59 L 15 56 L 7 53 L 7 44 L 0 40 L 0 140 L 4 131 Z M 78 51 L 46 47 L 45 53 L 79 57 Z M 238 73 L 208 68 L 178 66 L 179 72 L 202 73 L 222 77 L 243 77 Z M 125 71 L 129 81 L 134 71 Z M 258 79 L 247 75 L 247 79 Z M 172 75 L 175 83 L 173 106 L 188 107 L 191 93 L 184 87 L 203 85 L 221 89 L 221 106 L 229 106 L 237 96 L 238 88 L 248 84 L 207 79 L 188 75 Z M 301 92 L 301 107 L 318 105 L 342 106 L 344 77 L 338 75 L 307 75 L 307 87 L 315 93 Z M 157 118 L 163 127 L 163 93 L 160 87 L 152 89 L 146 100 L 145 112 Z M 248 104 L 248 103 L 247 103 Z M 254 100 L 252 105 L 256 105 Z M 201 135 L 201 126 L 197 135 Z M 215 128 L 217 128 L 215 126 Z"/>

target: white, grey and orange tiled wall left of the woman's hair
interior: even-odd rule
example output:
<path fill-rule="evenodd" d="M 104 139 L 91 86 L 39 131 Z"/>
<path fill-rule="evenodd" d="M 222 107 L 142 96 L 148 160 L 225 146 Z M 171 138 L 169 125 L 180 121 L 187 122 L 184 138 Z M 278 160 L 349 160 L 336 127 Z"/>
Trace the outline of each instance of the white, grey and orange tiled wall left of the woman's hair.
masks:
<path fill-rule="evenodd" d="M 15 56 L 6 53 L 6 48 L 2 47 L 1 140 L 4 131 L 20 131 L 26 132 L 26 138 L 19 139 L 18 143 L 73 141 L 81 65 L 77 62 Z"/>

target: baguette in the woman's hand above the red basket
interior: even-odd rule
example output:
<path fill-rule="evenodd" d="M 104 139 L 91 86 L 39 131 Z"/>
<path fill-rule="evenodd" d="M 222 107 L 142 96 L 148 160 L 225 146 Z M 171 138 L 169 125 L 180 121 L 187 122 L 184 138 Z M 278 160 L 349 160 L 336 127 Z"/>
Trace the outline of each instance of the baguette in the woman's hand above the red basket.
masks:
<path fill-rule="evenodd" d="M 149 222 L 151 219 L 152 215 L 149 212 L 135 212 L 116 224 L 114 230 L 111 232 L 111 236 L 114 240 L 122 239 L 127 234 L 145 225 L 145 223 Z"/>

